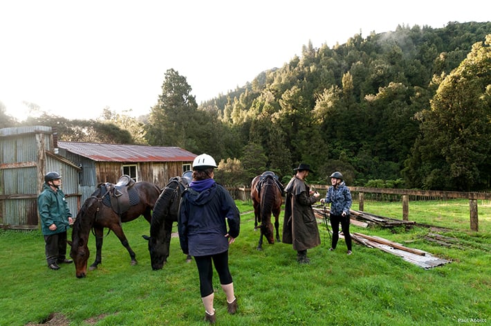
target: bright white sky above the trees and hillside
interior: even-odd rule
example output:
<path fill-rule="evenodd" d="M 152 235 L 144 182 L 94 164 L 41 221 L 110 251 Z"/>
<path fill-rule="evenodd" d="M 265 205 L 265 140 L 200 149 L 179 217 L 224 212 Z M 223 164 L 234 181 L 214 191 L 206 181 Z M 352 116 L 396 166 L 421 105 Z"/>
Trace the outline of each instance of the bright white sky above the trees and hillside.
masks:
<path fill-rule="evenodd" d="M 199 103 L 281 67 L 302 46 L 397 26 L 490 21 L 491 1 L 2 0 L 0 105 L 69 119 L 149 114 L 167 69 Z"/>

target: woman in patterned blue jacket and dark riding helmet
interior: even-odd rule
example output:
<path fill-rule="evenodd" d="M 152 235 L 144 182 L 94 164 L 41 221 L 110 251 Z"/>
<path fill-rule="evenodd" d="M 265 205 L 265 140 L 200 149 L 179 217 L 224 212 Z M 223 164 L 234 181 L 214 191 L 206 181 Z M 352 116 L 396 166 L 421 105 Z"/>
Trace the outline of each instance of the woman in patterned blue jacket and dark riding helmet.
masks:
<path fill-rule="evenodd" d="M 329 176 L 331 178 L 331 187 L 328 188 L 326 198 L 321 199 L 321 203 L 331 203 L 329 219 L 331 228 L 333 228 L 333 239 L 330 251 L 337 246 L 339 239 L 340 223 L 344 235 L 344 242 L 348 248 L 348 255 L 351 255 L 351 235 L 349 234 L 349 209 L 351 208 L 351 192 L 343 181 L 343 175 L 340 172 L 334 172 Z"/>

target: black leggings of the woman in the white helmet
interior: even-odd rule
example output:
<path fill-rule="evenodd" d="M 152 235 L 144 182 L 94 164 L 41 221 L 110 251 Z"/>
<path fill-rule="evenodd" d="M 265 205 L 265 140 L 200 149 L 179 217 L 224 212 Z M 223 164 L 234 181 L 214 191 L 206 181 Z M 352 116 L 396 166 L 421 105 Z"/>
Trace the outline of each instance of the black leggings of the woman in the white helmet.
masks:
<path fill-rule="evenodd" d="M 216 273 L 219 274 L 220 284 L 227 285 L 232 283 L 232 275 L 228 269 L 228 251 L 217 253 L 216 255 L 194 257 L 196 266 L 198 266 L 201 298 L 210 296 L 210 294 L 213 293 L 212 260 L 215 265 Z"/>

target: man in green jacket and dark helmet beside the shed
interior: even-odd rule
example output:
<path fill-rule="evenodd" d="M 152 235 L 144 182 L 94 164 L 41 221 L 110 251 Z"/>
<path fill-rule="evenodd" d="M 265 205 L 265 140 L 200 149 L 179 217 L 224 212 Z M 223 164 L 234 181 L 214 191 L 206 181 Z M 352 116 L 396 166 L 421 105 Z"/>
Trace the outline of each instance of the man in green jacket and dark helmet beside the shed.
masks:
<path fill-rule="evenodd" d="M 46 261 L 48 267 L 55 271 L 59 269 L 58 264 L 73 262 L 66 259 L 66 231 L 73 219 L 60 185 L 62 176 L 58 172 L 48 172 L 44 176 L 43 191 L 37 197 Z"/>

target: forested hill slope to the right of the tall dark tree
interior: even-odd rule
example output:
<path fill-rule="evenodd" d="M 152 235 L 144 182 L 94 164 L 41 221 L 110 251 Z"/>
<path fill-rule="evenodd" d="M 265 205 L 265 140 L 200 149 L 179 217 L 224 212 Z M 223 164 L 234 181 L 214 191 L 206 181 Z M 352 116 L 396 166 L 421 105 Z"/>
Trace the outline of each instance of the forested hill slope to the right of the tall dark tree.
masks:
<path fill-rule="evenodd" d="M 381 179 L 396 180 L 390 186 L 411 188 L 488 188 L 490 44 L 476 49 L 485 56 L 474 53 L 483 60 L 482 71 L 466 76 L 476 78 L 461 89 L 462 96 L 468 93 L 470 98 L 450 117 L 462 114 L 469 120 L 443 123 L 441 117 L 424 113 L 435 110 L 431 102 L 445 78 L 461 64 L 461 70 L 466 69 L 464 60 L 472 45 L 482 44 L 489 33 L 489 22 L 450 23 L 439 29 L 398 26 L 392 33 L 355 35 L 333 48 L 308 44 L 301 57 L 201 108 L 218 110 L 241 140 L 232 157 L 247 156 L 244 149 L 259 145 L 267 157 L 266 168 L 281 175 L 291 174 L 293 165 L 305 161 L 313 165 L 316 176 L 340 170 L 352 185 L 372 180 L 371 185 L 383 186 L 373 182 Z M 445 96 L 451 95 L 447 91 Z M 472 131 L 472 119 L 478 116 L 482 129 Z M 423 126 L 425 118 L 437 120 Z M 445 141 L 476 134 L 481 135 L 473 146 L 470 140 L 453 145 Z M 437 137 L 440 141 L 432 139 Z"/>

